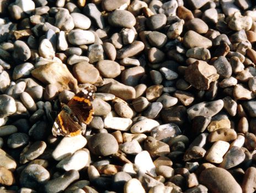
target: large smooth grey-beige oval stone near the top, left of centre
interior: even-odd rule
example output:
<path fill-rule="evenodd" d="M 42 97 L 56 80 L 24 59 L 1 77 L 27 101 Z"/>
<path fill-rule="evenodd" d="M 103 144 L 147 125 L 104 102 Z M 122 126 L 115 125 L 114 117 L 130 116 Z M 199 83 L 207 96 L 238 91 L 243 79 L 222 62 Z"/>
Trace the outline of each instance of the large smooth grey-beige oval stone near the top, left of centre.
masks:
<path fill-rule="evenodd" d="M 108 22 L 111 26 L 120 28 L 132 28 L 135 25 L 136 19 L 131 12 L 127 10 L 115 10 L 110 13 Z"/>

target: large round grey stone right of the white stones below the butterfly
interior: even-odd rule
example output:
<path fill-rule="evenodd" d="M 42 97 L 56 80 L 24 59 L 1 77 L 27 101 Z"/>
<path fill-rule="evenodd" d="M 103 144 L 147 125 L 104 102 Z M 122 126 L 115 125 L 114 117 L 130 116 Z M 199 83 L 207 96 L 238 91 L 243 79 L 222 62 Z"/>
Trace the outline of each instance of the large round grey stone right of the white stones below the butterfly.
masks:
<path fill-rule="evenodd" d="M 113 135 L 97 133 L 89 138 L 88 148 L 96 156 L 109 156 L 118 152 L 119 146 Z"/>

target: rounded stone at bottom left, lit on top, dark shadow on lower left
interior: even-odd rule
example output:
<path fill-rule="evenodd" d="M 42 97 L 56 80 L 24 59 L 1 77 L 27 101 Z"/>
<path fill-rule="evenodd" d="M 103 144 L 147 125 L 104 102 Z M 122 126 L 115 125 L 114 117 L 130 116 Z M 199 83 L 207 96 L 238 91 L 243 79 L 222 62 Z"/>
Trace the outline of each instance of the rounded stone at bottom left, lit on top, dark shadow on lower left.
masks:
<path fill-rule="evenodd" d="M 50 173 L 39 164 L 29 164 L 22 170 L 19 182 L 22 186 L 36 189 L 41 183 L 50 179 Z"/>

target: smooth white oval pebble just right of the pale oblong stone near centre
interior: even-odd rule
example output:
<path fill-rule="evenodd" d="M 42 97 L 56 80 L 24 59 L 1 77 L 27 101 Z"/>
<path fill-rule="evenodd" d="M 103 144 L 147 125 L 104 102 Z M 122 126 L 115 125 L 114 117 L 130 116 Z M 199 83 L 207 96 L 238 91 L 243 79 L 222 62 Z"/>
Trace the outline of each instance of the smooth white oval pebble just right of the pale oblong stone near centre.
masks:
<path fill-rule="evenodd" d="M 130 131 L 131 133 L 145 133 L 151 132 L 154 127 L 159 126 L 159 122 L 153 119 L 144 119 L 136 122 L 136 124 L 132 125 Z"/>

